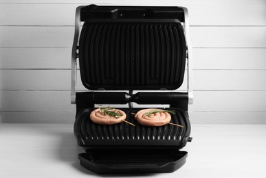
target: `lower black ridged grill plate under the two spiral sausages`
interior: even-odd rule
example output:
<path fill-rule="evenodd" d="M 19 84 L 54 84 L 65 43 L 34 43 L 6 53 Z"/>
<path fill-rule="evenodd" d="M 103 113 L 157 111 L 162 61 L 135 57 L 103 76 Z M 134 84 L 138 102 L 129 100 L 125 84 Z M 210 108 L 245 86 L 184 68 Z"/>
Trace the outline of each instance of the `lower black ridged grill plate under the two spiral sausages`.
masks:
<path fill-rule="evenodd" d="M 93 123 L 89 117 L 93 109 L 83 110 L 76 117 L 75 132 L 82 147 L 96 147 L 102 145 L 156 145 L 156 146 L 179 146 L 182 138 L 187 136 L 190 132 L 190 123 L 188 115 L 184 110 L 175 110 L 176 114 L 171 114 L 171 123 L 183 125 L 184 127 L 177 127 L 175 125 L 164 125 L 161 127 L 146 127 L 137 123 L 133 113 L 138 110 L 129 110 L 123 108 L 126 112 L 126 121 L 135 125 L 127 123 L 119 123 L 115 125 L 99 125 Z"/>

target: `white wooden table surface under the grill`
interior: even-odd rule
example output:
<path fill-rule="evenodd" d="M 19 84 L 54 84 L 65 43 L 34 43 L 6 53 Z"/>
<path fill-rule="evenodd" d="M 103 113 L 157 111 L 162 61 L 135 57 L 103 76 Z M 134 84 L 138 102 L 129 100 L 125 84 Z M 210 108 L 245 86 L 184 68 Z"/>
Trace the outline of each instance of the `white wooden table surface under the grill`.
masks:
<path fill-rule="evenodd" d="M 186 164 L 174 173 L 130 177 L 266 177 L 266 125 L 192 125 Z M 79 164 L 73 125 L 0 124 L 0 177 L 96 175 Z"/>

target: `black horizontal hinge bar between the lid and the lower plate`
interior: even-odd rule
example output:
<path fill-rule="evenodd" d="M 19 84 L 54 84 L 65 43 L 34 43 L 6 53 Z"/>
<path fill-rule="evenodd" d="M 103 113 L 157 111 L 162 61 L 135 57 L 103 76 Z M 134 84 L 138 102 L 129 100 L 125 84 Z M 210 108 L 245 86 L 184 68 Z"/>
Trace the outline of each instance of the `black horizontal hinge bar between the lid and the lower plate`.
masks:
<path fill-rule="evenodd" d="M 188 110 L 187 92 L 77 92 L 76 104 L 80 109 L 94 107 L 95 104 L 169 104 L 170 107 L 179 107 Z"/>

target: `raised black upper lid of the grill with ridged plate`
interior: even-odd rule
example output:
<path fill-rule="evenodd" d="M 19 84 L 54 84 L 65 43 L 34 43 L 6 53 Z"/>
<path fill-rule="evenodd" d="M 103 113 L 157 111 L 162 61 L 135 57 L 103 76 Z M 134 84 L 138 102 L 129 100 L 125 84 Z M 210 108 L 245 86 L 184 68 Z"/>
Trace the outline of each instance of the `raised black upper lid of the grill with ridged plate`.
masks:
<path fill-rule="evenodd" d="M 86 88 L 175 90 L 181 86 L 186 40 L 180 16 L 174 18 L 173 10 L 180 8 L 116 7 L 115 13 L 93 7 L 81 16 L 89 17 L 79 42 L 80 75 Z M 164 18 L 158 18 L 160 11 Z M 149 18 L 146 14 L 140 18 L 146 12 Z"/>

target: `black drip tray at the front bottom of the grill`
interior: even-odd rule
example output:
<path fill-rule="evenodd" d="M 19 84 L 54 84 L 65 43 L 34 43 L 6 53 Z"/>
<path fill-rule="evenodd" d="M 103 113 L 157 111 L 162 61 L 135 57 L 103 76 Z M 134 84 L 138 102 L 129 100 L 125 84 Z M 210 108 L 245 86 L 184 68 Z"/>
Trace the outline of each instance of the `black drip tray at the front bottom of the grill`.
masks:
<path fill-rule="evenodd" d="M 98 174 L 171 173 L 185 164 L 187 155 L 168 149 L 97 149 L 78 158 L 83 167 Z"/>

